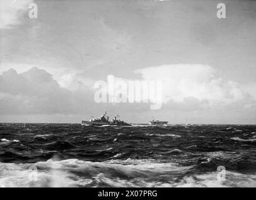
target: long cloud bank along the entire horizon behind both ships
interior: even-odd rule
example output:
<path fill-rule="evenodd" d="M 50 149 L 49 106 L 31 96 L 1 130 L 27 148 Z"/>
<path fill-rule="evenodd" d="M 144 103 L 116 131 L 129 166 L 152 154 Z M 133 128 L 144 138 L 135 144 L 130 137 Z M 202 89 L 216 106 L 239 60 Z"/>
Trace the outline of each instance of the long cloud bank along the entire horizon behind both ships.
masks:
<path fill-rule="evenodd" d="M 6 121 L 13 116 L 14 120 L 24 121 L 18 116 L 41 119 L 40 116 L 49 115 L 55 122 L 72 121 L 70 116 L 79 122 L 80 118 L 90 119 L 105 110 L 110 115 L 120 112 L 122 119 L 141 123 L 152 116 L 163 120 L 178 116 L 171 121 L 176 123 L 184 119 L 192 123 L 248 123 L 255 118 L 256 101 L 250 93 L 235 82 L 223 81 L 210 66 L 165 65 L 136 73 L 142 81 L 163 80 L 166 99 L 161 109 L 150 110 L 151 103 L 95 103 L 95 91 L 76 74 L 63 76 L 63 83 L 59 84 L 43 69 L 31 68 L 24 73 L 9 69 L 0 75 L 0 119 Z"/>

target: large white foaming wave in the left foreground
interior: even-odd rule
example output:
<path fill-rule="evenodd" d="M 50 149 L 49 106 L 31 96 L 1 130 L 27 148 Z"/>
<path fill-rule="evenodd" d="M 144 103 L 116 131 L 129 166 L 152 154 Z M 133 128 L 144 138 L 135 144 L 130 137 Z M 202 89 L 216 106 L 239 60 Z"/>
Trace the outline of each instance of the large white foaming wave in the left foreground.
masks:
<path fill-rule="evenodd" d="M 172 174 L 190 169 L 173 163 L 134 159 L 105 162 L 50 159 L 34 165 L 38 169 L 37 179 L 29 181 L 31 164 L 0 163 L 0 184 L 5 187 L 164 186 Z"/>

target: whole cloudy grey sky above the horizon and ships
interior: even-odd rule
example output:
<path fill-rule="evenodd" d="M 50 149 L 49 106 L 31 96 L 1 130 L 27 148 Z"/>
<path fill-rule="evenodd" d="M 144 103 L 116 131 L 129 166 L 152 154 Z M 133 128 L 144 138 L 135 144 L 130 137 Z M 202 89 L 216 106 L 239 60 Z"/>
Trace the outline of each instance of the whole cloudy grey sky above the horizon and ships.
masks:
<path fill-rule="evenodd" d="M 226 18 L 216 17 L 217 4 Z M 38 17 L 29 18 L 35 3 Z M 255 124 L 255 1 L 0 0 L 0 122 Z M 163 105 L 96 103 L 97 81 L 160 80 Z"/>

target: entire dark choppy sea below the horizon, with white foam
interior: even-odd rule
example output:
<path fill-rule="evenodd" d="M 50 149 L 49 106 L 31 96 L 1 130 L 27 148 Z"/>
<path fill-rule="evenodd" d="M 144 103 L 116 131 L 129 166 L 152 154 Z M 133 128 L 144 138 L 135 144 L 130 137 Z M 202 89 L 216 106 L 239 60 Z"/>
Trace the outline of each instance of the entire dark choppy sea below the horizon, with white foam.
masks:
<path fill-rule="evenodd" d="M 0 186 L 256 187 L 256 126 L 2 123 Z"/>

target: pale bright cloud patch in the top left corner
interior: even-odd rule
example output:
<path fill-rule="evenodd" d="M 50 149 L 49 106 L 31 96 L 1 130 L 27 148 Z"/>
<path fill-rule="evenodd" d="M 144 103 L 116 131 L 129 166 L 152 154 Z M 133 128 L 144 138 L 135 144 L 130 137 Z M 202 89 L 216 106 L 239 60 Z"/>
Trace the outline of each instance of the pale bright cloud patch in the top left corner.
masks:
<path fill-rule="evenodd" d="M 8 29 L 19 24 L 20 17 L 28 11 L 33 0 L 0 0 L 0 29 Z"/>

